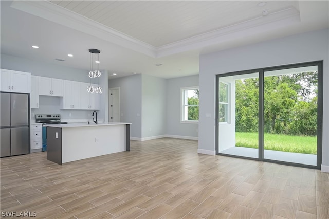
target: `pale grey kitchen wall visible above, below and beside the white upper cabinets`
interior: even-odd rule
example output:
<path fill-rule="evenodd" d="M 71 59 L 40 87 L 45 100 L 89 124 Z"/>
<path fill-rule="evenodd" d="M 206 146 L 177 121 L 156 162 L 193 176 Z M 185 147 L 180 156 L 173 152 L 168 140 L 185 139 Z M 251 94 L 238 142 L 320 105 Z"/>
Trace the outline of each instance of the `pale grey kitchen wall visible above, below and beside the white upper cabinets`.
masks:
<path fill-rule="evenodd" d="M 1 54 L 1 68 L 30 72 L 31 75 L 36 76 L 90 82 L 90 78 L 87 75 L 89 72 L 88 70 L 54 65 L 46 62 L 9 56 L 7 54 Z M 105 92 L 100 94 L 100 110 L 98 112 L 98 118 L 107 121 L 107 71 L 101 70 L 101 72 L 100 85 Z M 96 83 L 96 81 L 92 81 L 92 83 Z M 55 113 L 61 114 L 62 119 L 92 119 L 92 116 L 89 116 L 92 111 L 60 109 L 60 99 L 60 97 L 39 96 L 39 109 L 31 109 L 31 114 Z M 69 114 L 71 114 L 71 117 Z"/>

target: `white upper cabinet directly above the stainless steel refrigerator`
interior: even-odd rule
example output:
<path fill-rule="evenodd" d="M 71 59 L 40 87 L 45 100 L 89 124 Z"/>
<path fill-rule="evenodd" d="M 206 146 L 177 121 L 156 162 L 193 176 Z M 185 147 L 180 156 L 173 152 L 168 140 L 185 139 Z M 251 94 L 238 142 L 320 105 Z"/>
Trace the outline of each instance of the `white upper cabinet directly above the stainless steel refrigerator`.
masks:
<path fill-rule="evenodd" d="M 30 93 L 30 73 L 7 69 L 0 69 L 0 73 L 1 91 Z"/>

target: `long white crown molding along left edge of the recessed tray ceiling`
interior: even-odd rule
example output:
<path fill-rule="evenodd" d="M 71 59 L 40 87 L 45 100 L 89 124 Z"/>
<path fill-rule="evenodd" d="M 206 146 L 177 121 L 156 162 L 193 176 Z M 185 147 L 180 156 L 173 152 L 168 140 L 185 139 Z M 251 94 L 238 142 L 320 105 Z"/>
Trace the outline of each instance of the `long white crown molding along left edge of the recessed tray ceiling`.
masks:
<path fill-rule="evenodd" d="M 93 35 L 99 39 L 132 49 L 147 56 L 155 57 L 156 48 L 154 46 L 48 1 L 13 1 L 10 7 Z"/>

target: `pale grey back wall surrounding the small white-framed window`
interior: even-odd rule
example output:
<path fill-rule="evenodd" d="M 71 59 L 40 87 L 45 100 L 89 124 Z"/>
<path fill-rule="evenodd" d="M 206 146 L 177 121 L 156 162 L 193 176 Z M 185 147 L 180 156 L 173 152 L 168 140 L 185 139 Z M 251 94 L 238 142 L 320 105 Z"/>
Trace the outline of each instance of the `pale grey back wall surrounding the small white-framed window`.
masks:
<path fill-rule="evenodd" d="M 180 88 L 199 85 L 199 76 L 167 79 L 167 134 L 197 139 L 198 124 L 180 123 Z"/>

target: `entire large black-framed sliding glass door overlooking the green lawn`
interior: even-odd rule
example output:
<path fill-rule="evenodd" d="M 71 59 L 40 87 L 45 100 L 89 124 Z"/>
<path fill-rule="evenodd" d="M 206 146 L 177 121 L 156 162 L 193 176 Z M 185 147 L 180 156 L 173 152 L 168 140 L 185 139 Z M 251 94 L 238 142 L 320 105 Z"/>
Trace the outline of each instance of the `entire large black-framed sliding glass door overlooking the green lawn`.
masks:
<path fill-rule="evenodd" d="M 320 168 L 322 61 L 216 77 L 216 153 Z"/>

